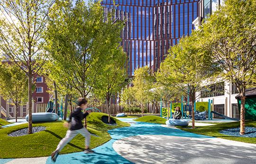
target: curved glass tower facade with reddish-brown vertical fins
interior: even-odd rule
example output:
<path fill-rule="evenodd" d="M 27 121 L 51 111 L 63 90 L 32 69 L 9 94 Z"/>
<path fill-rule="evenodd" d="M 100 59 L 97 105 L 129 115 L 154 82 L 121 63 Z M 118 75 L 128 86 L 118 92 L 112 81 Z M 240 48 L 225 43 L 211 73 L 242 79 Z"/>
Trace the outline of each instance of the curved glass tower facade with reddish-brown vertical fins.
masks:
<path fill-rule="evenodd" d="M 168 49 L 194 29 L 198 0 L 115 0 L 116 17 L 126 21 L 121 46 L 128 56 L 128 75 L 150 66 L 156 71 Z M 105 15 L 113 0 L 102 0 Z"/>

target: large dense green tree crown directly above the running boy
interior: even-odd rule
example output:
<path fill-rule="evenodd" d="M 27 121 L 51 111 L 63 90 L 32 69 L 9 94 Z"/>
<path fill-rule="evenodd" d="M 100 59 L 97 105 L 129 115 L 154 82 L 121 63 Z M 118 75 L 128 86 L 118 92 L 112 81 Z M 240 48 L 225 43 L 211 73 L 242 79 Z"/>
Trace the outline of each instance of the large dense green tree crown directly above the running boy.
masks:
<path fill-rule="evenodd" d="M 48 74 L 63 89 L 72 88 L 86 97 L 95 87 L 105 63 L 118 50 L 122 23 L 104 21 L 100 1 L 85 5 L 83 0 L 57 1 L 45 33 L 50 52 Z M 115 51 L 116 50 L 116 51 Z M 111 54 L 111 55 L 110 55 Z M 54 70 L 54 72 L 52 72 Z M 67 87 L 68 86 L 68 87 Z"/>

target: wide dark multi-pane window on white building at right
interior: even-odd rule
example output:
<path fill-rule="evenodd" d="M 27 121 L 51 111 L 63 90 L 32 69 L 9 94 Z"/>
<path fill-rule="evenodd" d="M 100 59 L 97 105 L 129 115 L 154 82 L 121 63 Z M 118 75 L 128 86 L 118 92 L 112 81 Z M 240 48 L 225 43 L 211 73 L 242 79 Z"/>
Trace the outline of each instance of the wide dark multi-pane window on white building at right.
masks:
<path fill-rule="evenodd" d="M 201 98 L 210 98 L 215 96 L 223 96 L 225 94 L 224 82 L 204 87 L 201 91 Z"/>

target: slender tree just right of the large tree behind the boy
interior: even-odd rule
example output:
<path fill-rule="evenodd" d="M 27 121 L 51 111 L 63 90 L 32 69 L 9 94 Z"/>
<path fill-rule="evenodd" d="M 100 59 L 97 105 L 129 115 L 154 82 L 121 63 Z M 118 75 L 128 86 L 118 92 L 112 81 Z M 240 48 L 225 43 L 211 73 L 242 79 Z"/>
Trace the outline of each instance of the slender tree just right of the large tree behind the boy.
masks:
<path fill-rule="evenodd" d="M 120 33 L 119 31 L 116 31 Z M 104 69 L 101 71 L 97 78 L 97 85 L 95 88 L 96 95 L 106 100 L 107 112 L 109 114 L 110 123 L 110 99 L 113 98 L 121 89 L 126 85 L 126 68 L 127 61 L 126 53 L 123 52 L 119 46 L 113 47 L 112 52 L 109 54 L 108 60 L 105 62 Z"/>

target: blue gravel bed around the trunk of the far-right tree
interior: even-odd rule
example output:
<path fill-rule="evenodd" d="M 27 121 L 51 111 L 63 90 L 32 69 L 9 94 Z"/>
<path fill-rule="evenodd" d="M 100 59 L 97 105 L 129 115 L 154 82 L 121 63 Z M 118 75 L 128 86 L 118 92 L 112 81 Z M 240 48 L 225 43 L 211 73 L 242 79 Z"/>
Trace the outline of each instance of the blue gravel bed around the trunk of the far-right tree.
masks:
<path fill-rule="evenodd" d="M 256 137 L 256 128 L 255 127 L 245 127 L 245 134 L 240 135 L 240 128 L 232 128 L 232 129 L 225 129 L 219 131 L 221 134 L 235 136 L 235 137 Z"/>

